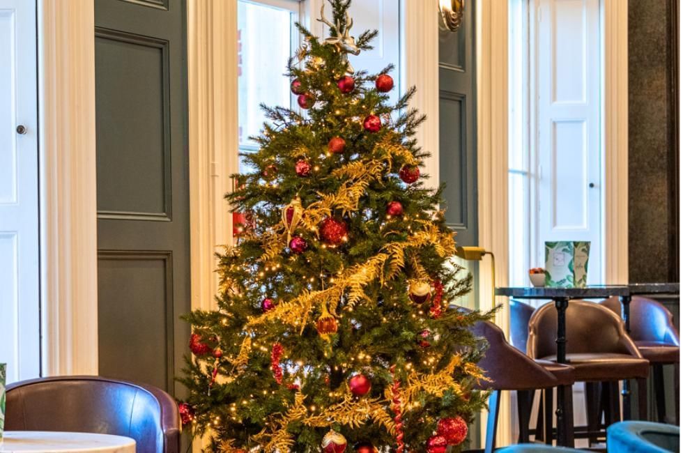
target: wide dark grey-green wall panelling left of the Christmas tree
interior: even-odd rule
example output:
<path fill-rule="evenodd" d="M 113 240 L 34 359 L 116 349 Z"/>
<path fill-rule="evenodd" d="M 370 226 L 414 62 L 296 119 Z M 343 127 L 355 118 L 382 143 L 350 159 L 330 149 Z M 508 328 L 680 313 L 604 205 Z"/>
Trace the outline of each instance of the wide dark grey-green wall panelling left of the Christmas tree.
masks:
<path fill-rule="evenodd" d="M 185 16 L 95 1 L 100 374 L 171 394 L 190 311 Z"/>

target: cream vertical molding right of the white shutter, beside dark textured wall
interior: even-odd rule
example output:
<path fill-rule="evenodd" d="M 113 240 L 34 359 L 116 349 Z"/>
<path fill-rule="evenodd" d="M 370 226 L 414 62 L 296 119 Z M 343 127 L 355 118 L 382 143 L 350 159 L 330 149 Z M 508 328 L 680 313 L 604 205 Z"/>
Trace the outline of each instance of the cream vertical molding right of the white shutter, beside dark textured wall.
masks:
<path fill-rule="evenodd" d="M 604 0 L 605 283 L 629 280 L 629 8 Z"/>

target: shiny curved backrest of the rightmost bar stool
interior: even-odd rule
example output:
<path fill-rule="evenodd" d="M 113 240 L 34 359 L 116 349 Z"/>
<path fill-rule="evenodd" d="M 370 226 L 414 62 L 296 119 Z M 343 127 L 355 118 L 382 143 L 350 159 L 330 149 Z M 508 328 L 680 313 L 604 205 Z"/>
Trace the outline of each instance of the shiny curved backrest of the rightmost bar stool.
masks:
<path fill-rule="evenodd" d="M 618 298 L 600 302 L 618 316 L 622 316 L 622 304 Z M 629 305 L 631 333 L 634 341 L 658 341 L 680 346 L 678 329 L 673 323 L 673 314 L 666 307 L 649 298 L 634 296 Z"/>

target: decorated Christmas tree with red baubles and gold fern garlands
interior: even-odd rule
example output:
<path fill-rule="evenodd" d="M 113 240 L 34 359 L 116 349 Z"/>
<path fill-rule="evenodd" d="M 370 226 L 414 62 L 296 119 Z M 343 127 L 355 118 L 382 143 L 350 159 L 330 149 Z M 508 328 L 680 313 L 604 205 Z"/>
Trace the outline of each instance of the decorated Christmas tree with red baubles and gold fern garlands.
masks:
<path fill-rule="evenodd" d="M 449 305 L 471 278 L 422 183 L 415 89 L 389 105 L 392 66 L 354 71 L 377 32 L 354 39 L 350 0 L 330 3 L 328 38 L 297 24 L 305 114 L 263 106 L 253 171 L 227 196 L 248 221 L 220 256 L 217 310 L 187 316 L 183 422 L 223 452 L 459 451 L 486 396 L 469 330 L 486 315 Z"/>

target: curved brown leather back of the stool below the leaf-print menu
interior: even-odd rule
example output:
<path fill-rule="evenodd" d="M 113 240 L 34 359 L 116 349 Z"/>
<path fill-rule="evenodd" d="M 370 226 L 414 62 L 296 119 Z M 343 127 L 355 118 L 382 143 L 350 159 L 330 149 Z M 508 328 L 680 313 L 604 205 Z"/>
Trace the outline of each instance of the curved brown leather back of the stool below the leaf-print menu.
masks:
<path fill-rule="evenodd" d="M 640 358 L 619 316 L 587 300 L 571 300 L 566 312 L 567 354 L 617 353 Z M 536 309 L 529 320 L 527 352 L 532 358 L 557 353 L 558 312 L 553 302 Z"/>

